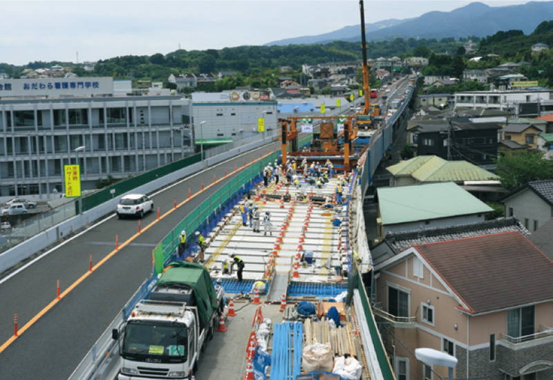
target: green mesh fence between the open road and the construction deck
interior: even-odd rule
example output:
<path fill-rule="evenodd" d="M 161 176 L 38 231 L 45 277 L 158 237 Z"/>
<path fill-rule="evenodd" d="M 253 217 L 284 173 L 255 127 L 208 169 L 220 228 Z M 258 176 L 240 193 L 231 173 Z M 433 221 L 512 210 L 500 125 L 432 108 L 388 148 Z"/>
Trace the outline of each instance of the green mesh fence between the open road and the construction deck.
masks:
<path fill-rule="evenodd" d="M 171 254 L 174 253 L 178 246 L 178 236 L 180 231 L 185 230 L 187 232 L 187 238 L 194 236 L 194 231 L 200 229 L 200 226 L 205 225 L 205 229 L 209 227 L 209 223 L 213 222 L 209 220 L 214 211 L 224 211 L 230 205 L 232 205 L 232 196 L 236 191 L 241 189 L 247 182 L 253 180 L 256 175 L 259 175 L 263 168 L 270 162 L 274 162 L 279 158 L 279 152 L 270 153 L 270 155 L 261 158 L 261 160 L 254 162 L 250 166 L 246 167 L 238 173 L 236 177 L 229 180 L 225 186 L 216 191 L 212 196 L 209 196 L 203 201 L 196 209 L 191 211 L 185 218 L 183 218 L 169 234 L 165 236 L 153 249 L 153 260 L 156 274 L 161 273 L 164 263 L 169 259 Z M 209 228 L 211 229 L 211 228 Z M 206 233 L 209 231 L 206 231 Z"/>

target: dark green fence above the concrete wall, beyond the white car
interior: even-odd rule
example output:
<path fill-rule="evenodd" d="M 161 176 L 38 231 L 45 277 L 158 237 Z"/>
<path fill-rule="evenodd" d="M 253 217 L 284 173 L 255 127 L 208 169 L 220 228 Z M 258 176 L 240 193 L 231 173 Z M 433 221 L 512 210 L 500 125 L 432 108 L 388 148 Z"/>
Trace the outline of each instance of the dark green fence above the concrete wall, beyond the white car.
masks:
<path fill-rule="evenodd" d="M 101 205 L 104 202 L 107 202 L 108 200 L 111 200 L 112 198 L 115 198 L 117 196 L 120 196 L 123 193 L 126 193 L 127 191 L 136 189 L 137 187 L 140 187 L 143 184 L 147 184 L 148 182 L 157 180 L 158 178 L 162 178 L 167 174 L 171 174 L 175 171 L 188 167 L 191 164 L 196 164 L 196 162 L 200 162 L 199 153 L 195 155 L 191 155 L 187 158 L 183 158 L 182 160 L 171 162 L 162 167 L 158 167 L 157 169 L 153 169 L 151 171 L 147 171 L 145 173 L 135 175 L 134 177 L 129 178 L 127 180 L 123 180 L 115 184 L 112 184 L 111 186 L 106 187 L 105 189 L 96 191 L 95 193 L 92 193 L 89 196 L 83 197 L 82 211 L 90 210 L 93 207 L 96 207 L 98 205 Z M 75 202 L 75 204 L 76 203 L 77 202 Z"/>

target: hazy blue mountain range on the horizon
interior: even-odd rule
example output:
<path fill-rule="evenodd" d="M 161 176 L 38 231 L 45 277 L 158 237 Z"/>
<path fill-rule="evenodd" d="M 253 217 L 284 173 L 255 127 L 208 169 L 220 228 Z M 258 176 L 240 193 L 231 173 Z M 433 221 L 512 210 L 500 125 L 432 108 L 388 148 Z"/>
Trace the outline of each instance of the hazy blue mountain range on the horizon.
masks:
<path fill-rule="evenodd" d="M 428 12 L 413 19 L 388 19 L 366 23 L 367 41 L 402 37 L 442 39 L 446 37 L 487 37 L 503 30 L 534 31 L 542 21 L 553 19 L 553 1 L 530 1 L 516 6 L 490 7 L 470 3 L 451 12 Z M 360 41 L 361 27 L 346 26 L 322 35 L 272 41 L 265 45 L 328 44 L 332 41 Z"/>

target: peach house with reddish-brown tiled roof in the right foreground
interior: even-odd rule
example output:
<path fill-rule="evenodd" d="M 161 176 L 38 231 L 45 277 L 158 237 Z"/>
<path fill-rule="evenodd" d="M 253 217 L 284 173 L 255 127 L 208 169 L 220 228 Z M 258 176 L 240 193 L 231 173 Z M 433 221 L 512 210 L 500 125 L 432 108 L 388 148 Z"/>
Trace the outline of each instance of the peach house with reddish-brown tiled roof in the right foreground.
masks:
<path fill-rule="evenodd" d="M 404 380 L 447 378 L 421 347 L 456 357 L 455 379 L 553 377 L 553 262 L 518 231 L 414 245 L 375 265 L 371 289 Z"/>

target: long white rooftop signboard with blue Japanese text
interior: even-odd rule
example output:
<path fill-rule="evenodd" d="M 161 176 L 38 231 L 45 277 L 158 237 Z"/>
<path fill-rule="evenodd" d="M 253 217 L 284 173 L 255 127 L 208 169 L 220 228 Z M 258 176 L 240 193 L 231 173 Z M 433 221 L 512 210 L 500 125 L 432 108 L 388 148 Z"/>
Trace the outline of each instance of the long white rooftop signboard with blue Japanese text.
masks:
<path fill-rule="evenodd" d="M 113 78 L 0 79 L 0 97 L 113 95 Z"/>

